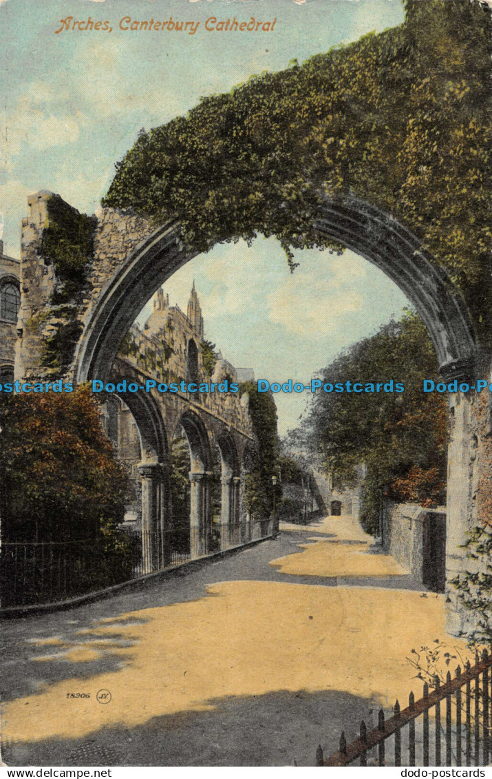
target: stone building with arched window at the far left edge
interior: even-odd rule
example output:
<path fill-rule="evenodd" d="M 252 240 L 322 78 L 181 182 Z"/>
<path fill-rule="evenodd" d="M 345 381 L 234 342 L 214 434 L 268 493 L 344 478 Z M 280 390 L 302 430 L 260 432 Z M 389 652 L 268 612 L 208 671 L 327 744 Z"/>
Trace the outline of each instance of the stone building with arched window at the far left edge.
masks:
<path fill-rule="evenodd" d="M 16 325 L 20 307 L 20 263 L 3 253 L 0 241 L 0 384 L 14 378 Z"/>

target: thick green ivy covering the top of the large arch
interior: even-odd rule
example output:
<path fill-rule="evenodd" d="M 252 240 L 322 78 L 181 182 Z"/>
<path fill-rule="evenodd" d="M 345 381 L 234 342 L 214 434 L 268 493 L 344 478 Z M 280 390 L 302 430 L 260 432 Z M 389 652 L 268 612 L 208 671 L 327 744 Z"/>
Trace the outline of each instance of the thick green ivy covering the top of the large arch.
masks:
<path fill-rule="evenodd" d="M 141 132 L 104 204 L 156 223 L 177 216 L 199 251 L 274 235 L 293 264 L 293 249 L 339 249 L 312 217 L 326 196 L 350 192 L 419 236 L 480 324 L 490 300 L 490 26 L 479 0 L 406 0 L 400 26 L 252 76 Z"/>

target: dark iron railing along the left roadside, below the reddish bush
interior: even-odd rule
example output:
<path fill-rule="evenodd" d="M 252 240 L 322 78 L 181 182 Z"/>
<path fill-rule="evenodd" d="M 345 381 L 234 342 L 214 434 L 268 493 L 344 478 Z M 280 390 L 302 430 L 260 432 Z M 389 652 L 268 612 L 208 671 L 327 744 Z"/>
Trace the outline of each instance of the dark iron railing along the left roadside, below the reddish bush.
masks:
<path fill-rule="evenodd" d="M 272 534 L 272 520 L 121 533 L 113 547 L 81 541 L 2 541 L 0 608 L 55 603 L 182 565 Z"/>

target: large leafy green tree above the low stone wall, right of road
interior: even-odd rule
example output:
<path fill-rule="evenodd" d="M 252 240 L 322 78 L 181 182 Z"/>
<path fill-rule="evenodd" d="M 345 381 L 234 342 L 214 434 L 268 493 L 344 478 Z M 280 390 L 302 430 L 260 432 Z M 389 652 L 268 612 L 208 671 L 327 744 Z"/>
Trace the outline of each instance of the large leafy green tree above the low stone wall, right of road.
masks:
<path fill-rule="evenodd" d="M 338 382 L 346 388 L 348 381 L 350 387 L 358 382 L 374 388 L 316 393 L 304 428 L 335 484 L 353 485 L 356 466 L 367 465 L 361 513 L 367 530 L 377 530 L 382 495 L 423 506 L 445 502 L 446 399 L 423 393 L 422 383 L 437 382 L 437 373 L 427 331 L 410 313 L 354 344 L 320 373 L 323 384 L 333 387 Z M 395 392 L 397 382 L 402 393 Z"/>

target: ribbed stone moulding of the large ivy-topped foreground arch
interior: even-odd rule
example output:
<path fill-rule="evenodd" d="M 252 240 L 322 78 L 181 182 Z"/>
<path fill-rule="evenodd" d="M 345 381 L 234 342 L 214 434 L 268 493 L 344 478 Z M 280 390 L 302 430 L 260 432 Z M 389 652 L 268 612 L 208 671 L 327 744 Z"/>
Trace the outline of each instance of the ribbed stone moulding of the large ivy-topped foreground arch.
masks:
<path fill-rule="evenodd" d="M 476 337 L 466 304 L 415 235 L 390 215 L 355 198 L 327 201 L 315 226 L 320 234 L 380 268 L 406 294 L 427 327 L 446 379 L 473 373 Z M 77 382 L 107 377 L 122 338 L 149 296 L 199 253 L 183 249 L 177 220 L 135 242 L 132 251 L 126 252 L 125 247 L 117 270 L 112 263 L 97 300 L 86 311 L 73 365 Z"/>

